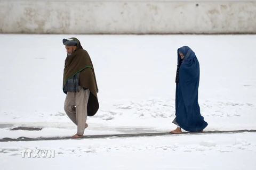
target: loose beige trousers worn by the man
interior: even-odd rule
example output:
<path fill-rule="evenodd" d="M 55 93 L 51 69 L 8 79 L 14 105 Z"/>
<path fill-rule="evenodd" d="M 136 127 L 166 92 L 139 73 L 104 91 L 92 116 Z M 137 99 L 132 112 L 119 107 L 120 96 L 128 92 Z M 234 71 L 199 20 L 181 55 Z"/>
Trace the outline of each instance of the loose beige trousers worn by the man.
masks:
<path fill-rule="evenodd" d="M 72 122 L 77 125 L 77 134 L 83 135 L 87 120 L 87 103 L 90 90 L 79 86 L 79 92 L 67 92 L 64 110 Z"/>

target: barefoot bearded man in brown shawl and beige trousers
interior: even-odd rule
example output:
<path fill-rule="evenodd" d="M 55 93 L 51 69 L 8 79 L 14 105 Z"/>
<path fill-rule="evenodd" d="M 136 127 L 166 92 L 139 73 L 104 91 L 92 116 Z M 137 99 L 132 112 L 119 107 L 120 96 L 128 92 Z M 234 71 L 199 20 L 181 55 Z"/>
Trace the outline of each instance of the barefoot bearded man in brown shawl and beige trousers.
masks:
<path fill-rule="evenodd" d="M 99 109 L 98 86 L 91 58 L 77 38 L 62 40 L 67 50 L 63 73 L 63 92 L 67 95 L 64 110 L 77 125 L 72 138 L 82 138 L 87 128 L 87 116 L 94 116 Z"/>

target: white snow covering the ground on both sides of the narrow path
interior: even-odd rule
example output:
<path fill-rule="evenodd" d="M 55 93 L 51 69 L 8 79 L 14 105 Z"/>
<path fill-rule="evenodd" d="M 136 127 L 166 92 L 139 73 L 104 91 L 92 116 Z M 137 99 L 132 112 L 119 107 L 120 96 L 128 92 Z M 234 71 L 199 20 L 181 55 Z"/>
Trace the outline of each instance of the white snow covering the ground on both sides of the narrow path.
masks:
<path fill-rule="evenodd" d="M 0 35 L 0 139 L 67 137 L 76 126 L 63 110 L 63 38 Z M 85 135 L 169 132 L 176 128 L 177 49 L 201 64 L 199 105 L 214 130 L 256 129 L 254 35 L 76 35 L 89 52 L 99 112 Z M 16 126 L 41 131 L 10 131 Z M 255 133 L 1 142 L 1 169 L 256 169 Z M 53 149 L 55 158 L 21 158 L 23 149 Z M 61 161 L 58 163 L 58 160 Z M 39 165 L 39 166 L 38 166 Z"/>

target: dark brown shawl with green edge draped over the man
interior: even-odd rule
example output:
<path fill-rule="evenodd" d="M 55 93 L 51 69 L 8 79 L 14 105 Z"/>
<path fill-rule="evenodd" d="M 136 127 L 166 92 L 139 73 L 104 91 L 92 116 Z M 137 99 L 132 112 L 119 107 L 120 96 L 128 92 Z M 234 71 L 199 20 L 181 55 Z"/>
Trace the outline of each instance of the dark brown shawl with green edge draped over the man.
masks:
<path fill-rule="evenodd" d="M 89 54 L 81 46 L 80 41 L 76 38 L 72 39 L 77 41 L 77 48 L 73 54 L 67 55 L 65 60 L 62 88 L 65 87 L 68 79 L 80 72 L 79 86 L 88 88 L 90 90 L 89 101 L 87 104 L 87 115 L 94 116 L 99 109 L 99 101 L 97 97 L 99 90 L 93 64 Z"/>

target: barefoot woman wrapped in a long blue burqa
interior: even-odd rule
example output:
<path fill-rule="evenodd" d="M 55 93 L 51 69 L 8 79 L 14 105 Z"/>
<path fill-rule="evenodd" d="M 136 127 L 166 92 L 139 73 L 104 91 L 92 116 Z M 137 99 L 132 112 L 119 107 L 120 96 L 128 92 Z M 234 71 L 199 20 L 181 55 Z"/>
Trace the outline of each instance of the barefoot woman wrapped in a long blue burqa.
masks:
<path fill-rule="evenodd" d="M 170 133 L 203 132 L 208 125 L 201 115 L 198 104 L 200 68 L 193 50 L 188 46 L 178 49 L 178 66 L 176 73 L 175 119 L 178 127 Z"/>

